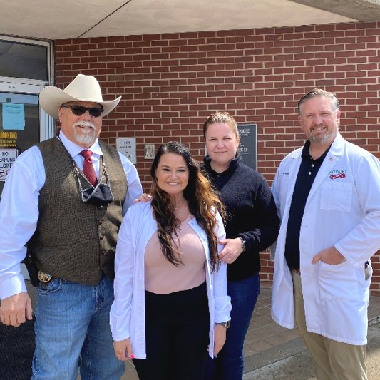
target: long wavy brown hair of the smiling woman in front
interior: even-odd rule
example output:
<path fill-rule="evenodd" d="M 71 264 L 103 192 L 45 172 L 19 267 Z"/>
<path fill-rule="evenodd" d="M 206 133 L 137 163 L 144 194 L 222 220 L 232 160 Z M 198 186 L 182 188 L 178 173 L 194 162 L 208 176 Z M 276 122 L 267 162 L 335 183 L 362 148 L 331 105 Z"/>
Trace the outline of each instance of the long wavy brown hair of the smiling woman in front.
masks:
<path fill-rule="evenodd" d="M 170 196 L 162 190 L 157 183 L 156 170 L 160 163 L 160 158 L 165 153 L 174 153 L 180 155 L 185 160 L 189 171 L 188 185 L 183 190 L 183 196 L 190 214 L 195 216 L 198 224 L 205 230 L 210 250 L 210 263 L 212 271 L 220 264 L 220 259 L 217 255 L 217 234 L 216 234 L 216 210 L 220 212 L 222 217 L 225 217 L 225 207 L 220 202 L 207 178 L 200 172 L 199 164 L 192 158 L 190 150 L 176 141 L 171 141 L 158 148 L 150 175 L 152 176 L 152 202 L 153 215 L 158 225 L 158 240 L 165 258 L 175 266 L 183 265 L 177 245 L 173 240 L 173 234 L 177 235 L 177 229 L 180 225 L 180 220 L 175 217 L 174 206 L 170 201 Z"/>

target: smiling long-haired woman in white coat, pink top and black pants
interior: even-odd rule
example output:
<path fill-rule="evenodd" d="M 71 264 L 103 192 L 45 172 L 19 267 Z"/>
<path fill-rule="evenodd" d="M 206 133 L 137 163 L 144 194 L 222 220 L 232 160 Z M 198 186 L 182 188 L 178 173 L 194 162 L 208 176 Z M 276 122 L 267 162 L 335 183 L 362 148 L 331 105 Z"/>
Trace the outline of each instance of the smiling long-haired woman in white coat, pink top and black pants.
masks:
<path fill-rule="evenodd" d="M 188 148 L 162 145 L 150 170 L 152 199 L 130 207 L 115 257 L 115 354 L 141 380 L 202 379 L 230 321 L 220 200 Z"/>

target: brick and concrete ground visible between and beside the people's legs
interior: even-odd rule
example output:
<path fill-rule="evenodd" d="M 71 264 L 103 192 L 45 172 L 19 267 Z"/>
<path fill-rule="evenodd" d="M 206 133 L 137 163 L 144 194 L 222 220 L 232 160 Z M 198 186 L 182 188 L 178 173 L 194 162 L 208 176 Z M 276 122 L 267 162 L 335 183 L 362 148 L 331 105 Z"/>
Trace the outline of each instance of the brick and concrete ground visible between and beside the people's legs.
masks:
<path fill-rule="evenodd" d="M 270 317 L 272 288 L 261 284 L 255 312 L 245 339 L 245 380 L 315 379 L 312 362 L 297 329 L 285 329 Z M 369 344 L 367 371 L 369 380 L 380 379 L 380 297 L 370 297 L 368 317 Z M 121 380 L 138 380 L 128 362 Z"/>

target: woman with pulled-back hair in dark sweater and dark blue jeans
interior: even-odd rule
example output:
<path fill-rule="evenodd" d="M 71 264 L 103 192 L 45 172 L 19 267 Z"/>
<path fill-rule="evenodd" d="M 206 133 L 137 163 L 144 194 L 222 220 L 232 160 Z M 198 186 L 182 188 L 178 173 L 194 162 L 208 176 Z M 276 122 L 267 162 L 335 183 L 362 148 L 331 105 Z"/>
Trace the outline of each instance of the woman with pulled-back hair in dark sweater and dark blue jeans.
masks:
<path fill-rule="evenodd" d="M 240 162 L 237 123 L 227 112 L 210 115 L 203 125 L 208 155 L 202 171 L 225 205 L 226 240 L 220 259 L 227 262 L 231 325 L 217 358 L 210 360 L 207 380 L 240 380 L 245 334 L 260 294 L 260 256 L 277 239 L 279 218 L 269 185 L 256 170 Z"/>

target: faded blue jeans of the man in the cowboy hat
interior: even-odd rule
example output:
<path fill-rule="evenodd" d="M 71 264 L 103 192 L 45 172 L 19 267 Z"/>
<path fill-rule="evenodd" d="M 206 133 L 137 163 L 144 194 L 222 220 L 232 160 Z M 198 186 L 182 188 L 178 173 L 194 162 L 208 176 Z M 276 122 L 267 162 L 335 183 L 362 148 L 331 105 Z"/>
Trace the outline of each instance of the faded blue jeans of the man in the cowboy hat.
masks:
<path fill-rule="evenodd" d="M 116 359 L 109 325 L 113 282 L 52 279 L 38 286 L 36 297 L 33 380 L 76 380 L 78 365 L 83 380 L 120 379 L 125 364 Z"/>

